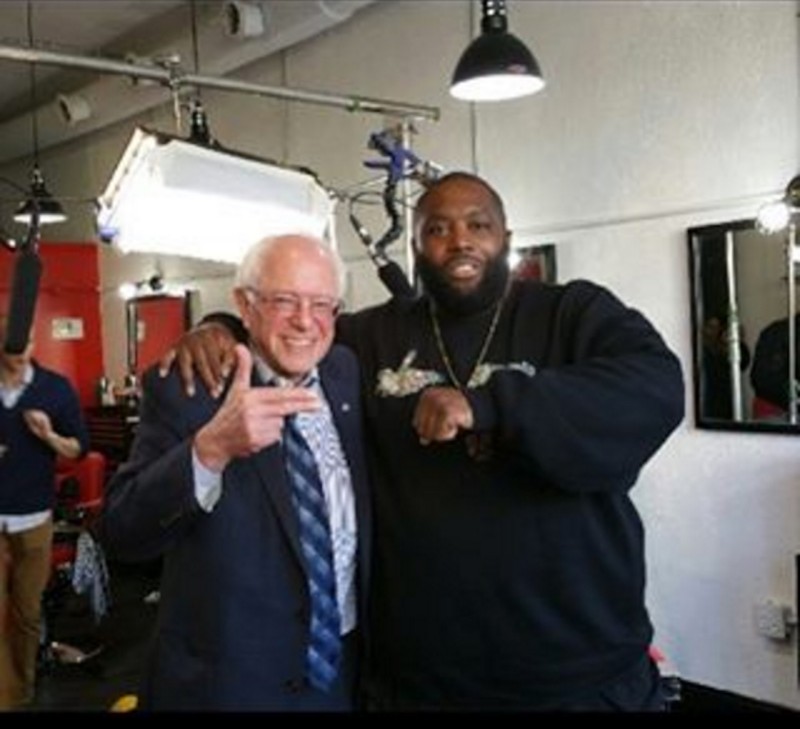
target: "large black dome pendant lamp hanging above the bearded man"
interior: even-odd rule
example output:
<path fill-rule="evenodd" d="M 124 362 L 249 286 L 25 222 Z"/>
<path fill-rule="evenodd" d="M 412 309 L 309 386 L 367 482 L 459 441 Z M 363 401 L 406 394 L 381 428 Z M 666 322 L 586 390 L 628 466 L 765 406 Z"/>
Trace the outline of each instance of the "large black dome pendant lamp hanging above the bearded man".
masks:
<path fill-rule="evenodd" d="M 527 46 L 508 32 L 504 0 L 481 0 L 481 34 L 458 61 L 450 94 L 464 101 L 503 101 L 535 94 L 545 82 Z"/>

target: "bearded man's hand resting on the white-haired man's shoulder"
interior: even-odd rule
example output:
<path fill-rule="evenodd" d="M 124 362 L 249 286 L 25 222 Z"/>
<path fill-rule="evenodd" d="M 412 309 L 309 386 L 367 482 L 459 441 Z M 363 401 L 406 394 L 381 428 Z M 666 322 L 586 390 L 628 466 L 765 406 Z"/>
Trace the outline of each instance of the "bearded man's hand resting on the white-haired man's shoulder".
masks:
<path fill-rule="evenodd" d="M 216 322 L 201 324 L 186 332 L 159 360 L 159 372 L 166 377 L 170 367 L 177 364 L 186 394 L 191 397 L 195 391 L 197 370 L 209 392 L 219 397 L 236 361 L 235 344 L 236 339 L 224 325 Z"/>

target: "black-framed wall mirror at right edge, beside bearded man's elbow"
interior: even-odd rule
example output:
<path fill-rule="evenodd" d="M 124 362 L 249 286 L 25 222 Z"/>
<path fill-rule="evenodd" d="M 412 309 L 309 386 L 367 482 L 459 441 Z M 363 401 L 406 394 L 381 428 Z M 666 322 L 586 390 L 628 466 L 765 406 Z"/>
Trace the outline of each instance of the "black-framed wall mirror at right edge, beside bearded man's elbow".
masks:
<path fill-rule="evenodd" d="M 800 432 L 796 238 L 754 219 L 689 229 L 698 427 Z"/>

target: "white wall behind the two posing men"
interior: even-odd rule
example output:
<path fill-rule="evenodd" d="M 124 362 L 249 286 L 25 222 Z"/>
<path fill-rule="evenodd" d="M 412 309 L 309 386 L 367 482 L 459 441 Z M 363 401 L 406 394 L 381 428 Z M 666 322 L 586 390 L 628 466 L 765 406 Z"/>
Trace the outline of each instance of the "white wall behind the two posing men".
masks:
<path fill-rule="evenodd" d="M 419 125 L 417 152 L 448 168 L 476 167 L 504 194 L 520 242 L 557 243 L 560 278 L 595 279 L 645 312 L 683 362 L 691 413 L 686 229 L 751 217 L 797 172 L 797 6 L 509 6 L 511 30 L 534 49 L 548 85 L 529 99 L 477 108 L 474 136 L 469 105 L 446 95 L 470 35 L 467 2 L 378 2 L 245 75 L 440 106 L 441 121 Z M 378 118 L 231 95 L 205 94 L 204 102 L 228 146 L 307 164 L 333 186 L 368 176 L 362 162 L 374 156 L 366 140 L 381 127 Z M 152 120 L 169 125 L 166 111 Z M 91 148 L 51 155 L 48 169 L 58 169 L 51 187 L 72 182 L 96 194 L 129 131 L 121 125 Z M 90 236 L 84 229 L 66 237 Z M 350 261 L 351 303 L 383 298 L 344 226 L 339 240 Z M 110 252 L 103 258 L 111 288 L 125 265 Z M 167 273 L 186 275 L 183 264 L 167 265 L 174 267 Z M 214 281 L 202 287 L 210 308 L 224 301 L 224 280 Z M 104 300 L 113 357 L 124 351 L 123 319 Z M 689 415 L 635 494 L 659 646 L 689 680 L 800 708 L 796 645 L 770 643 L 753 621 L 756 601 L 794 595 L 795 449 L 792 436 L 700 431 Z"/>

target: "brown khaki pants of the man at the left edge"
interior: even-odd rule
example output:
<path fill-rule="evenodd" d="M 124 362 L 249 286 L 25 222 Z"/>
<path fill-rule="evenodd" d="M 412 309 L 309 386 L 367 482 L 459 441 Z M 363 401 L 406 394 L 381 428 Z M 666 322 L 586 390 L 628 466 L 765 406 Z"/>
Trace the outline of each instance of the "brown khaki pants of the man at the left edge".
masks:
<path fill-rule="evenodd" d="M 53 522 L 0 533 L 0 710 L 33 699 Z"/>

